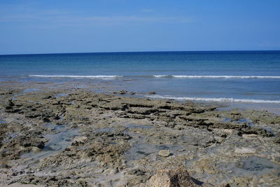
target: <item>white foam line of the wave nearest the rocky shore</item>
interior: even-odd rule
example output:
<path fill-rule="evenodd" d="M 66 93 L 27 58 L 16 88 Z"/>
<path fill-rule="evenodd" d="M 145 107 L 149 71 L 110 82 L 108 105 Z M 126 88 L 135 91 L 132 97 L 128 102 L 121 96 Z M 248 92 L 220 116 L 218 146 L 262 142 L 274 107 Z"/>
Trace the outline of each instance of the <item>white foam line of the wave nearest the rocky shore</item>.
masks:
<path fill-rule="evenodd" d="M 176 100 L 194 100 L 202 102 L 251 102 L 251 103 L 274 103 L 280 104 L 280 100 L 262 100 L 262 99 L 236 99 L 236 98 L 227 98 L 227 97 L 218 97 L 218 98 L 206 98 L 206 97 L 174 97 L 174 96 L 162 96 L 162 95 L 146 95 L 150 98 L 158 99 L 176 99 Z"/>

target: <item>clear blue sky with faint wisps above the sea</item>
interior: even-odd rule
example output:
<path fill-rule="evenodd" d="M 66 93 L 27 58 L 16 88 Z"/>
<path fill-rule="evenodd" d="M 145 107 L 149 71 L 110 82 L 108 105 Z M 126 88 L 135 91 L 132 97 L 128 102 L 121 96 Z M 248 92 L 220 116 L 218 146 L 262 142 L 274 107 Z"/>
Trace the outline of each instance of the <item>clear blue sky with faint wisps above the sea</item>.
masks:
<path fill-rule="evenodd" d="M 0 54 L 280 50 L 279 0 L 1 0 Z"/>

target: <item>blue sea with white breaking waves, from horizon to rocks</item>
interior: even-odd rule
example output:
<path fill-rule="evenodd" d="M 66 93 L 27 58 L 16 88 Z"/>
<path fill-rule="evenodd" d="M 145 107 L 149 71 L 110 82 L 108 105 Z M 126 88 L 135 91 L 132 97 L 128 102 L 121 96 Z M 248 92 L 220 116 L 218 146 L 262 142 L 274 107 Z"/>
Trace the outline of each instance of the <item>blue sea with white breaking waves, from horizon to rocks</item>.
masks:
<path fill-rule="evenodd" d="M 104 84 L 154 99 L 222 102 L 280 113 L 276 50 L 0 55 L 0 85 L 4 81 Z M 155 95 L 147 94 L 151 91 Z"/>

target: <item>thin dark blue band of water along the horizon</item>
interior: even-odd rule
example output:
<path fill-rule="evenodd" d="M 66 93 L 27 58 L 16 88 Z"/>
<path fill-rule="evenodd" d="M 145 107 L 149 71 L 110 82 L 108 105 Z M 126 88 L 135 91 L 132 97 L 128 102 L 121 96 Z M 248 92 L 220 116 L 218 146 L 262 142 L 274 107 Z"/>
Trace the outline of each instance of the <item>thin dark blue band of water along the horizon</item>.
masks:
<path fill-rule="evenodd" d="M 182 53 L 182 52 L 276 52 L 280 50 L 143 50 L 143 51 L 111 51 L 111 52 L 73 52 L 73 53 L 15 53 L 15 54 L 0 54 L 5 55 L 62 55 L 62 54 L 90 54 L 90 53 Z"/>

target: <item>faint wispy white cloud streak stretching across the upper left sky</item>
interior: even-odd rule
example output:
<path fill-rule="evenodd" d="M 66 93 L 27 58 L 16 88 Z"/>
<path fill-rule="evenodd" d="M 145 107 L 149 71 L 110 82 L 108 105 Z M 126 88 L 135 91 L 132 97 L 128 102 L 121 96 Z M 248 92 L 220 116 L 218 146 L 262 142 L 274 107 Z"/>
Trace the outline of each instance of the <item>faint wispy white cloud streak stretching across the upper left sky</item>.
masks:
<path fill-rule="evenodd" d="M 151 9 L 144 9 L 144 12 L 152 12 Z M 61 10 L 41 10 L 26 8 L 25 11 L 16 11 L 10 13 L 5 11 L 0 13 L 0 22 L 22 22 L 32 23 L 41 22 L 44 24 L 63 25 L 123 25 L 127 23 L 187 23 L 193 22 L 192 18 L 186 17 L 158 17 L 145 15 L 114 15 L 114 16 L 99 16 L 99 15 L 83 15 L 80 12 L 69 12 Z"/>

